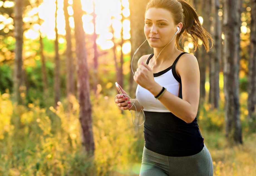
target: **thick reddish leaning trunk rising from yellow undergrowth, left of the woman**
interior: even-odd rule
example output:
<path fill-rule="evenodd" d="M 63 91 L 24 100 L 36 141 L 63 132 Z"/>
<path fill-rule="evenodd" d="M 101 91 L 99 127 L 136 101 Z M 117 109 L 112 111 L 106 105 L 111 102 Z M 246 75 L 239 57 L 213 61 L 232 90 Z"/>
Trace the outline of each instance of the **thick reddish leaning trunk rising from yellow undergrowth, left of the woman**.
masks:
<path fill-rule="evenodd" d="M 82 144 L 88 153 L 94 153 L 94 141 L 92 131 L 92 105 L 90 103 L 89 70 L 87 64 L 87 52 L 85 47 L 85 32 L 82 23 L 81 1 L 73 1 L 75 40 L 77 54 L 77 82 L 79 100 L 79 120 L 82 127 Z"/>

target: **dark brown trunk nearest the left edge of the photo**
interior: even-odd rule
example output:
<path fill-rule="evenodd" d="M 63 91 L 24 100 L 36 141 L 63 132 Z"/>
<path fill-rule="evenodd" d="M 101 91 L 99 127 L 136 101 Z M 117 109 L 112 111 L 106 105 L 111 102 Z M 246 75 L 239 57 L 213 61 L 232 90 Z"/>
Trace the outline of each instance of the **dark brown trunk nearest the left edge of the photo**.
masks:
<path fill-rule="evenodd" d="M 22 48 L 23 48 L 23 4 L 24 0 L 15 0 L 14 6 L 14 35 L 15 43 L 15 59 L 14 59 L 14 101 L 18 104 L 22 103 L 21 85 L 22 85 Z"/>

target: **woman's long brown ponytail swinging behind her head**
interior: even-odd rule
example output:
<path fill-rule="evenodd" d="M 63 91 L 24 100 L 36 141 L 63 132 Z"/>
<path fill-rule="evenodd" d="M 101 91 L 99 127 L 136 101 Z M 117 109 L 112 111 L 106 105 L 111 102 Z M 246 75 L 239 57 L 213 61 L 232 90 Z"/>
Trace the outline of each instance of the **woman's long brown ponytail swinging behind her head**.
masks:
<path fill-rule="evenodd" d="M 200 39 L 208 52 L 213 46 L 211 34 L 202 27 L 195 9 L 191 7 L 188 2 L 184 0 L 178 0 L 178 2 L 181 3 L 183 9 L 183 27 L 181 32 L 177 34 L 176 46 L 178 49 L 183 50 L 181 47 L 184 46 L 186 37 L 188 37 L 193 40 L 196 51 L 199 42 L 198 39 Z M 209 40 L 211 42 L 211 47 L 209 47 Z"/>

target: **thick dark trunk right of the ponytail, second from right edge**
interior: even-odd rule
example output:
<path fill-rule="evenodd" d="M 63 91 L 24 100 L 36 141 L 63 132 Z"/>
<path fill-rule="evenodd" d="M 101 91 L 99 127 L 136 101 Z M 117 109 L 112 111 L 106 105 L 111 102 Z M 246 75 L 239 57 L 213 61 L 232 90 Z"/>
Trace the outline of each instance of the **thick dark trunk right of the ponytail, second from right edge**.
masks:
<path fill-rule="evenodd" d="M 239 103 L 240 16 L 237 0 L 224 0 L 224 94 L 226 137 L 230 143 L 242 143 Z"/>

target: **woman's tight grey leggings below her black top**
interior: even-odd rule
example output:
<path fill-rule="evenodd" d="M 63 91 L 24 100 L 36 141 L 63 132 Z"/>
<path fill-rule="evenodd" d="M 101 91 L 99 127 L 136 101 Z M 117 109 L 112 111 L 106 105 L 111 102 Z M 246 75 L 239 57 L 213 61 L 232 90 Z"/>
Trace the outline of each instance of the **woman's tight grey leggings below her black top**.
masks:
<path fill-rule="evenodd" d="M 204 146 L 198 154 L 169 157 L 143 149 L 140 176 L 212 176 L 213 162 Z"/>

